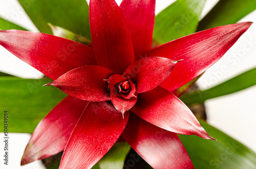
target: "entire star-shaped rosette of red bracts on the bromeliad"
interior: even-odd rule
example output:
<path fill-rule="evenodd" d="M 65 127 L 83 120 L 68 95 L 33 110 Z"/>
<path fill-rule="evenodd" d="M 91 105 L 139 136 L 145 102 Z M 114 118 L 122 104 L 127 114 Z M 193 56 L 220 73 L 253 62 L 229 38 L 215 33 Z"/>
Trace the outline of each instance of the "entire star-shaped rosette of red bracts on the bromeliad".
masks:
<path fill-rule="evenodd" d="M 38 124 L 22 165 L 65 149 L 60 168 L 91 168 L 121 136 L 154 168 L 194 168 L 176 133 L 214 138 L 170 91 L 218 61 L 251 22 L 150 49 L 154 13 L 154 0 L 123 0 L 120 8 L 114 0 L 91 0 L 93 48 L 47 34 L 0 31 L 2 46 L 54 80 L 47 85 L 71 95 Z"/>

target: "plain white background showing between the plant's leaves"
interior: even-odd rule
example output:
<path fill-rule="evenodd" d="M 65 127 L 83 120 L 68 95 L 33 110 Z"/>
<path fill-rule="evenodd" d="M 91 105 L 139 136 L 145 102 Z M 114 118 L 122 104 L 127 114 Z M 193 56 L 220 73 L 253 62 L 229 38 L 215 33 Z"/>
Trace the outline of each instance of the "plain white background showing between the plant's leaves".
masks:
<path fill-rule="evenodd" d="M 120 3 L 121 1 L 117 0 L 117 2 Z M 162 9 L 173 3 L 174 0 L 165 0 L 164 2 L 157 0 L 156 2 L 156 13 L 159 13 Z M 208 0 L 202 16 L 204 16 L 217 2 L 218 0 Z M 0 1 L 0 16 L 17 23 L 30 31 L 38 32 L 22 7 L 20 7 L 15 0 Z M 241 21 L 254 21 L 256 23 L 256 12 L 252 12 Z M 256 67 L 256 44 L 254 44 L 249 51 L 245 51 L 243 47 L 248 40 L 256 42 L 256 24 L 253 24 L 238 42 L 223 56 L 223 58 L 209 68 L 198 80 L 201 89 L 215 86 L 216 84 L 241 74 L 243 71 Z M 236 63 L 230 61 L 230 57 L 232 57 L 233 54 L 240 54 L 240 57 L 234 60 Z M 221 72 L 223 66 L 227 67 L 228 71 Z M 0 71 L 22 78 L 40 78 L 42 76 L 39 71 L 17 59 L 2 46 L 0 46 Z M 229 134 L 256 152 L 255 95 L 256 86 L 234 94 L 206 101 L 206 108 L 209 124 Z M 10 165 L 6 167 L 6 165 L 3 165 L 3 162 L 0 162 L 0 168 L 45 168 L 41 165 L 40 161 L 25 166 L 19 166 L 20 159 L 22 158 L 23 151 L 30 136 L 30 134 L 21 133 L 10 134 Z M 1 157 L 3 154 L 3 147 L 4 145 L 1 141 Z"/>

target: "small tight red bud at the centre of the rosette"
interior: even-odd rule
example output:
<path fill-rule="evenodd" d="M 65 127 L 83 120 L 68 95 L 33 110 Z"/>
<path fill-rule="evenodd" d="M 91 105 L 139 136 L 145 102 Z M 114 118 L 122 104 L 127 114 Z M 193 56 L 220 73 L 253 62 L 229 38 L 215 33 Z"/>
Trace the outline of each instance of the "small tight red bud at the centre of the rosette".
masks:
<path fill-rule="evenodd" d="M 110 76 L 108 80 L 111 94 L 115 94 L 123 99 L 136 98 L 136 87 L 129 76 L 124 77 L 119 74 Z"/>

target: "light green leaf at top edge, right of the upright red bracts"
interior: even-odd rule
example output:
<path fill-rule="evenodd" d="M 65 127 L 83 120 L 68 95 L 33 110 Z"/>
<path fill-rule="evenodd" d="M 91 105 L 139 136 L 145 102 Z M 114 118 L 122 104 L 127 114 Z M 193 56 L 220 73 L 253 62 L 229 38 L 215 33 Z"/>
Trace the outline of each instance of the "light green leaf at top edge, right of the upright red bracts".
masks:
<path fill-rule="evenodd" d="M 206 0 L 177 0 L 156 16 L 153 38 L 163 44 L 195 33 Z"/>

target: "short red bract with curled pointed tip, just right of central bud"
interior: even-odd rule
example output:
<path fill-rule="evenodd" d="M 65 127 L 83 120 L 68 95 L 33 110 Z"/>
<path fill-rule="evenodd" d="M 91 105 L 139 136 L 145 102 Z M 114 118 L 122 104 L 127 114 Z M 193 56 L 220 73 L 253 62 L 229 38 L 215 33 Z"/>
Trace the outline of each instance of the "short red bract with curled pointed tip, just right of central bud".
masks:
<path fill-rule="evenodd" d="M 123 76 L 130 76 L 135 81 L 138 93 L 146 92 L 159 86 L 179 61 L 162 57 L 141 58 L 127 67 Z"/>

